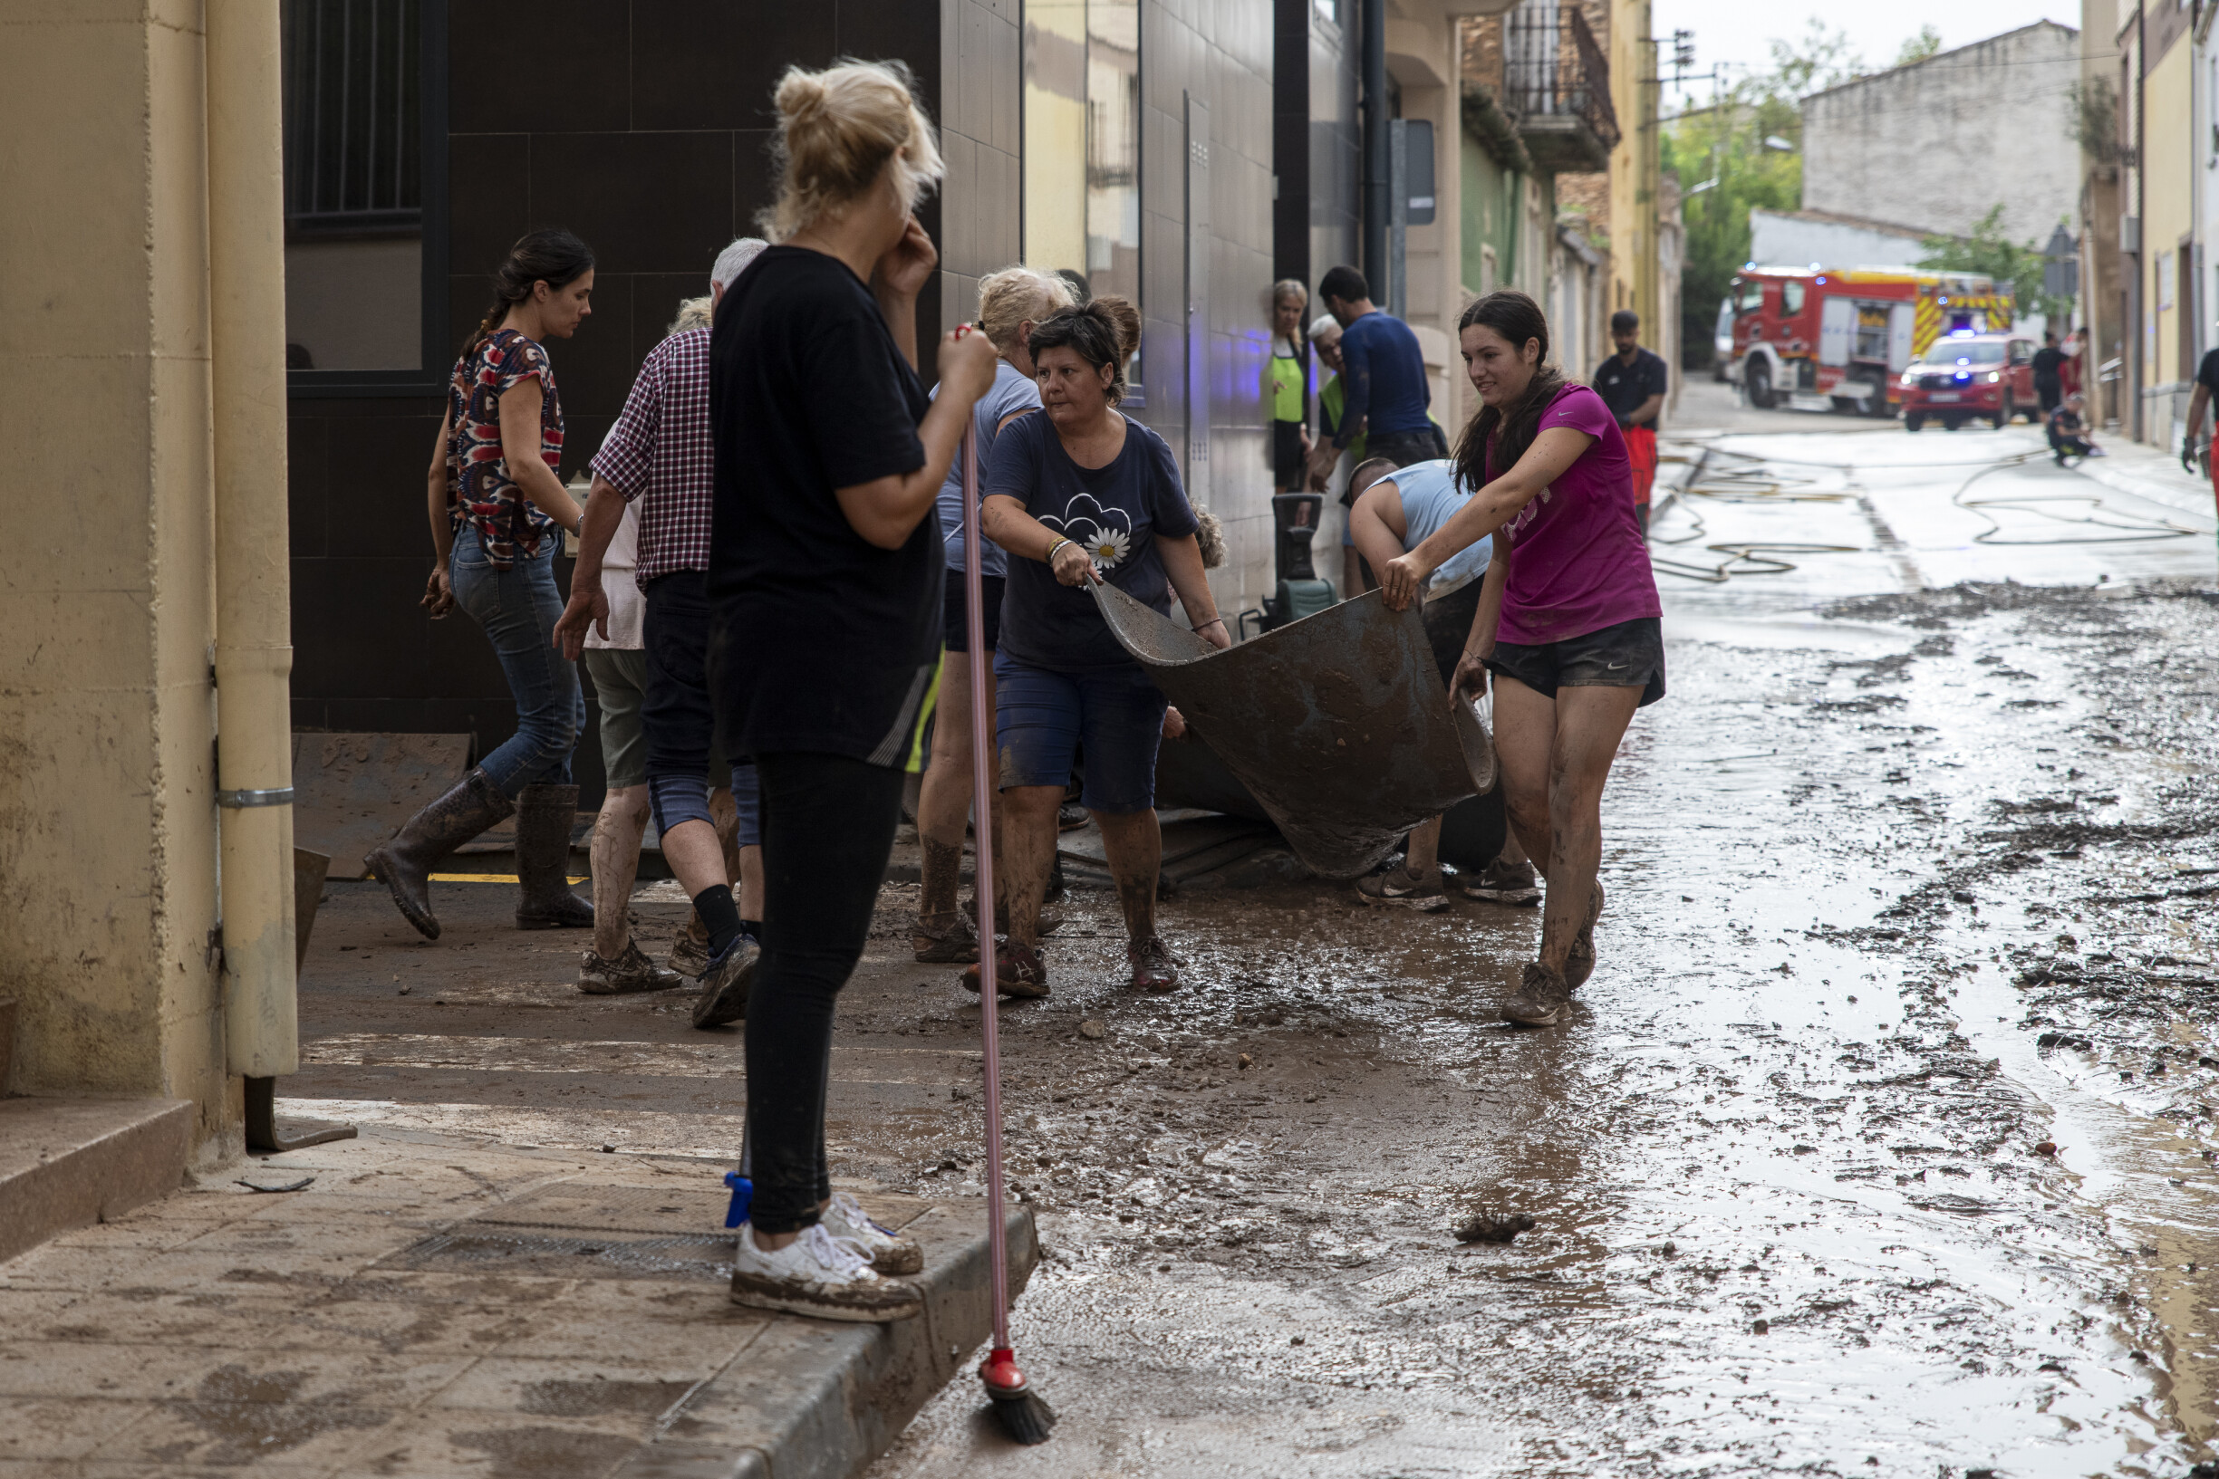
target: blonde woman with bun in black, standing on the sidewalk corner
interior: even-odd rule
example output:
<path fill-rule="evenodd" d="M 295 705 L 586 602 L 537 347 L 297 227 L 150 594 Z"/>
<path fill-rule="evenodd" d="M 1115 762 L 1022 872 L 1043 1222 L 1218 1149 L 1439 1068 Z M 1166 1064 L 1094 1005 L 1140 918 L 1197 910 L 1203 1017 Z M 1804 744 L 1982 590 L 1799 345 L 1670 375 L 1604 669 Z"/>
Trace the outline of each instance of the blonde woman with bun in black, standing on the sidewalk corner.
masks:
<path fill-rule="evenodd" d="M 774 246 L 710 330 L 717 448 L 710 672 L 763 805 L 763 956 L 746 998 L 750 1222 L 732 1299 L 819 1319 L 919 1313 L 916 1244 L 832 1195 L 825 1080 L 894 845 L 941 652 L 941 483 L 994 384 L 970 326 L 916 377 L 916 295 L 939 253 L 914 206 L 941 177 L 899 64 L 792 69 L 777 86 Z"/>

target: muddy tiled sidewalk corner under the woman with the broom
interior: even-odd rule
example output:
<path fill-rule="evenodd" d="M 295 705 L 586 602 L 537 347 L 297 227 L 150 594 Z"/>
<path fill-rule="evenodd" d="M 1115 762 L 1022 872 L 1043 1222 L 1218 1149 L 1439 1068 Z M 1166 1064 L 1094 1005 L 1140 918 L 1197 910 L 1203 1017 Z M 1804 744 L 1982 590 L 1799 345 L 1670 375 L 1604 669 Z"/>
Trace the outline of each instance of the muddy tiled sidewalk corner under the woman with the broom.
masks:
<path fill-rule="evenodd" d="M 47 1242 L 0 1264 L 0 1479 L 859 1472 L 987 1335 L 981 1206 L 852 1189 L 919 1319 L 759 1315 L 723 1169 L 371 1124 Z"/>

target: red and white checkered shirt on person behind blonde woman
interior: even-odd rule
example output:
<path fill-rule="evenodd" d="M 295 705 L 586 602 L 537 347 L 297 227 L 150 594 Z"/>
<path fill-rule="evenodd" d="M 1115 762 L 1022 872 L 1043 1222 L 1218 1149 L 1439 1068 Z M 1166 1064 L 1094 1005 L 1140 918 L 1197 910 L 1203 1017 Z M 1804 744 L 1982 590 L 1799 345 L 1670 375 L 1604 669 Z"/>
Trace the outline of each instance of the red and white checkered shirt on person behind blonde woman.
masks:
<path fill-rule="evenodd" d="M 608 428 L 592 470 L 639 506 L 639 565 L 646 588 L 672 570 L 708 570 L 715 443 L 708 428 L 708 330 L 657 344 Z"/>

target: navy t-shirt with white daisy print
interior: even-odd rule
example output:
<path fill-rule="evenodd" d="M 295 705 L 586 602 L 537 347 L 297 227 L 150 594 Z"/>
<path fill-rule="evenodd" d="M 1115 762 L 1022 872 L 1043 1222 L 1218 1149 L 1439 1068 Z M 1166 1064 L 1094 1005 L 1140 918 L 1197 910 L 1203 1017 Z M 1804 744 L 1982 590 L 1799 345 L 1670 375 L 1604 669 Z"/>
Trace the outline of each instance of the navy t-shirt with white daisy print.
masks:
<path fill-rule="evenodd" d="M 1016 499 L 1027 514 L 1085 545 L 1107 583 L 1143 605 L 1172 612 L 1172 581 L 1156 552 L 1156 534 L 1178 539 L 1192 534 L 1196 521 L 1178 481 L 1178 459 L 1149 428 L 1127 417 L 1125 446 L 1110 466 L 1081 468 L 1045 412 L 1025 417 L 994 441 L 985 492 Z M 1094 596 L 1061 583 L 1036 559 L 1010 561 L 996 650 L 1047 672 L 1136 667 L 1110 634 Z"/>

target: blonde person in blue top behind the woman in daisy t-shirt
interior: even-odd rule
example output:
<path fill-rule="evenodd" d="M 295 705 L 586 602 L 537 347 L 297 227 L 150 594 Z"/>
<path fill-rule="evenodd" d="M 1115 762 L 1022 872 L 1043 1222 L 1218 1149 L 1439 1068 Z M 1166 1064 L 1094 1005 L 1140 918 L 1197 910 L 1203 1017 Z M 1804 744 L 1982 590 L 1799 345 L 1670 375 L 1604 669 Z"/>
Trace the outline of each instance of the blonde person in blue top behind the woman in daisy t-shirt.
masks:
<path fill-rule="evenodd" d="M 1019 417 L 1041 408 L 1032 381 L 1032 350 L 1025 335 L 1058 308 L 1072 306 L 1072 284 L 1030 266 L 1005 266 L 979 282 L 979 328 L 994 346 L 994 388 L 972 410 L 979 439 L 981 486 L 994 455 L 994 437 Z M 932 763 L 925 765 L 916 803 L 916 838 L 923 843 L 923 889 L 916 900 L 916 931 L 910 947 L 919 965 L 963 965 L 979 958 L 979 931 L 956 909 L 963 874 L 963 832 L 972 809 L 970 725 L 970 623 L 963 612 L 963 468 L 941 483 L 941 539 L 948 543 L 948 590 L 943 596 L 941 714 L 932 725 Z M 979 545 L 979 594 L 985 603 L 987 712 L 994 705 L 994 643 L 1001 632 L 1001 590 L 1007 557 L 999 545 Z M 996 812 L 996 820 L 999 820 Z"/>

